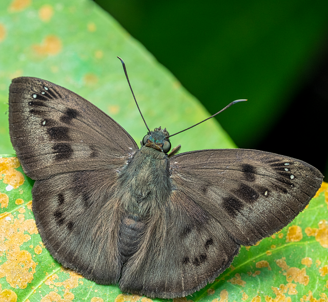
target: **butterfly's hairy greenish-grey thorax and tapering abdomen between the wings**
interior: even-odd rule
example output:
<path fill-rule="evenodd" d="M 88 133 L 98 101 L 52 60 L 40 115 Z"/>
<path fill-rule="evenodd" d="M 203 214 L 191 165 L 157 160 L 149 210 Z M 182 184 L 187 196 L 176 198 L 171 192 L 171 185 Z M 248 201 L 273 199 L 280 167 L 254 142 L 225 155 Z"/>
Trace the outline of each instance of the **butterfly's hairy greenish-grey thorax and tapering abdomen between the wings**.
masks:
<path fill-rule="evenodd" d="M 148 221 L 165 212 L 171 192 L 169 159 L 162 152 L 141 147 L 119 175 L 119 196 L 124 214 L 119 228 L 121 260 L 126 263 L 138 250 Z"/>

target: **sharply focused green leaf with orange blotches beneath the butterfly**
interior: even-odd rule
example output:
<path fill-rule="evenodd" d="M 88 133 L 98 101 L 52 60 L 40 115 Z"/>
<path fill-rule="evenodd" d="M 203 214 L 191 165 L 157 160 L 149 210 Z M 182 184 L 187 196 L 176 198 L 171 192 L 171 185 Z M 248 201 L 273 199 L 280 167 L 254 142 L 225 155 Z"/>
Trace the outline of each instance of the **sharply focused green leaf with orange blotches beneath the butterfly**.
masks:
<path fill-rule="evenodd" d="M 0 183 L 0 247 L 3 253 L 0 282 L 5 293 L 16 295 L 17 301 L 29 299 L 30 302 L 42 298 L 122 302 L 141 299 L 136 295 L 121 295 L 116 285 L 97 285 L 62 268 L 45 249 L 37 233 L 31 211 L 33 181 L 24 175 L 15 157 L 0 160 L 0 175 L 3 178 Z M 327 183 L 323 184 L 322 191 L 328 196 Z M 281 232 L 256 246 L 241 247 L 232 266 L 212 284 L 181 299 L 250 301 L 258 296 L 265 301 L 288 301 L 289 297 L 299 301 L 303 296 L 326 297 L 327 217 L 328 202 L 321 193 Z"/>

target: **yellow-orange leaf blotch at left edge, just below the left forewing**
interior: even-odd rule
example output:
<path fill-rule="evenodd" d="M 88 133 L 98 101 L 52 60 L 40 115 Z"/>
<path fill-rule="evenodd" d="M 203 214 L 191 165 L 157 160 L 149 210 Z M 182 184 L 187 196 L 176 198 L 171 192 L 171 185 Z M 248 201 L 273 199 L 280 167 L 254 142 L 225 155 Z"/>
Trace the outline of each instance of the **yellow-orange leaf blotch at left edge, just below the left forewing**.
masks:
<path fill-rule="evenodd" d="M 0 158 L 0 180 L 17 188 L 24 183 L 24 176 L 16 170 L 20 166 L 17 157 Z"/>

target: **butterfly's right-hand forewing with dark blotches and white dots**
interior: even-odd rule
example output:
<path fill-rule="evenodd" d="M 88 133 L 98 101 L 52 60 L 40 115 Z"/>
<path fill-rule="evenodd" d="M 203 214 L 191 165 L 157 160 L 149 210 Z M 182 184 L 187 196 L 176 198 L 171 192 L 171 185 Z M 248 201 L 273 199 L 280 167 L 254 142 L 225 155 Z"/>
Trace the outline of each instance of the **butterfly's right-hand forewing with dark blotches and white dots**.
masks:
<path fill-rule="evenodd" d="M 213 149 L 171 159 L 173 194 L 188 196 L 244 246 L 290 223 L 323 176 L 300 160 L 249 149 Z"/>

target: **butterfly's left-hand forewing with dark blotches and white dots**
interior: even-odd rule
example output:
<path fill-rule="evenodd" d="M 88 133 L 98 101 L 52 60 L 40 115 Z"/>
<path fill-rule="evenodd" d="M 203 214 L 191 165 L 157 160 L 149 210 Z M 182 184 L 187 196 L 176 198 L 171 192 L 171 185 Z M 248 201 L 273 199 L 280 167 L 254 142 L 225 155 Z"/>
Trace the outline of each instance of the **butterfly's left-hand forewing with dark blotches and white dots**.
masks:
<path fill-rule="evenodd" d="M 9 132 L 24 172 L 35 180 L 116 168 L 138 149 L 127 131 L 99 108 L 37 78 L 12 81 Z"/>

